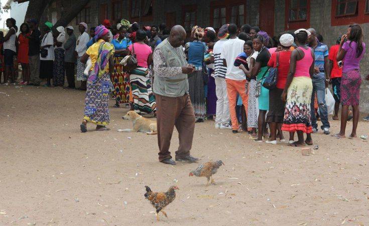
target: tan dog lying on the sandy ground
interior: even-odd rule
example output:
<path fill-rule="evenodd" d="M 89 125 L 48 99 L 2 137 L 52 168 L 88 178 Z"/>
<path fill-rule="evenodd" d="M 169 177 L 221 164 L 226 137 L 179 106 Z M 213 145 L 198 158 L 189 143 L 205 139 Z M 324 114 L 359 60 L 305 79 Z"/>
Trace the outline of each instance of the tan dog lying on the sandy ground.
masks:
<path fill-rule="evenodd" d="M 146 132 L 149 135 L 158 134 L 156 122 L 142 117 L 135 111 L 127 112 L 122 118 L 132 120 L 133 129 L 118 129 L 118 132 Z"/>

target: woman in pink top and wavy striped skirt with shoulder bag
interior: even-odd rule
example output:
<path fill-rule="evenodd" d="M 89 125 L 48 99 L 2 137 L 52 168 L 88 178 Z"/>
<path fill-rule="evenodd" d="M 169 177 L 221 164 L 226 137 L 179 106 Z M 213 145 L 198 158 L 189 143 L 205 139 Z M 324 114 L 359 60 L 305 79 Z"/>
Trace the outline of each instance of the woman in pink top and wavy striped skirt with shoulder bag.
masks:
<path fill-rule="evenodd" d="M 139 114 L 150 114 L 156 111 L 155 96 L 151 87 L 151 73 L 148 65 L 153 62 L 153 50 L 145 43 L 144 30 L 136 32 L 136 42 L 129 46 L 131 54 L 136 55 L 138 67 L 131 70 L 130 84 L 133 96 L 133 107 Z"/>

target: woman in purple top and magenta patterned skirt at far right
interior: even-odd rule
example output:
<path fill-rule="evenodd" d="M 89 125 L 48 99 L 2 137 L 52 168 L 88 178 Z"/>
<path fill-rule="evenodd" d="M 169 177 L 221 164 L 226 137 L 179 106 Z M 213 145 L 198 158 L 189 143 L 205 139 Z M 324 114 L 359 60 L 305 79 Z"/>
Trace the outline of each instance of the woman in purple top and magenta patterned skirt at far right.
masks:
<path fill-rule="evenodd" d="M 347 41 L 345 41 L 347 39 Z M 346 123 L 348 117 L 348 106 L 352 106 L 353 122 L 352 132 L 349 138 L 356 137 L 356 128 L 359 120 L 360 102 L 360 60 L 365 53 L 365 43 L 361 27 L 358 24 L 348 26 L 347 34 L 341 38 L 337 61 L 343 61 L 341 78 L 341 129 L 337 137 L 345 137 Z"/>

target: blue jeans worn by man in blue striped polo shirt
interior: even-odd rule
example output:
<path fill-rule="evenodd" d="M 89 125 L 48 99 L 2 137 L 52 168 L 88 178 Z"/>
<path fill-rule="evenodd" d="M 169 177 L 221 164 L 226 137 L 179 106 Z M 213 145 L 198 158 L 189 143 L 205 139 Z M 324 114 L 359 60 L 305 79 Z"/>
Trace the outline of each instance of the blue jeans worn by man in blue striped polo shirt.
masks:
<path fill-rule="evenodd" d="M 318 123 L 316 123 L 316 116 L 314 110 L 315 92 L 318 98 L 320 121 L 323 123 L 323 125 L 320 128 L 321 129 L 329 128 L 330 125 L 328 122 L 328 110 L 327 106 L 325 105 L 325 78 L 313 77 L 313 93 L 311 95 L 311 103 L 310 103 L 311 126 L 313 128 L 318 128 Z"/>

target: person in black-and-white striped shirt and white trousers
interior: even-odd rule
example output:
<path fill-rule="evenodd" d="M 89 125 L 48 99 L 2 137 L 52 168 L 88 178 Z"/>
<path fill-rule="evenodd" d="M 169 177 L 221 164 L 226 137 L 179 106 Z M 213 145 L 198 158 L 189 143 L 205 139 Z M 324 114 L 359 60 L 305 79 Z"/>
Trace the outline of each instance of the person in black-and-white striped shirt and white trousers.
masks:
<path fill-rule="evenodd" d="M 229 125 L 229 102 L 227 95 L 227 85 L 225 83 L 225 73 L 227 67 L 223 65 L 223 58 L 221 57 L 221 51 L 223 44 L 228 41 L 228 25 L 223 25 L 218 32 L 219 41 L 214 44 L 214 78 L 215 78 L 215 92 L 216 92 L 216 118 L 215 128 L 231 129 Z"/>

